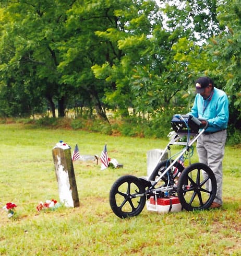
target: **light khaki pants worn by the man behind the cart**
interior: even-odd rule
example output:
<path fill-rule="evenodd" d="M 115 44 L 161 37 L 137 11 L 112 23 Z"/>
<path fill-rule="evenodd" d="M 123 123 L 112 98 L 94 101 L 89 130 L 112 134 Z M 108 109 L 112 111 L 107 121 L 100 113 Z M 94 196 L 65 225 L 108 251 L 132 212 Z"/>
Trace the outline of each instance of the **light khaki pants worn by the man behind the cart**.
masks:
<path fill-rule="evenodd" d="M 217 191 L 214 202 L 223 204 L 222 185 L 223 185 L 223 167 L 224 146 L 226 142 L 227 131 L 220 131 L 212 134 L 202 134 L 197 141 L 197 152 L 199 161 L 211 168 L 215 174 Z"/>

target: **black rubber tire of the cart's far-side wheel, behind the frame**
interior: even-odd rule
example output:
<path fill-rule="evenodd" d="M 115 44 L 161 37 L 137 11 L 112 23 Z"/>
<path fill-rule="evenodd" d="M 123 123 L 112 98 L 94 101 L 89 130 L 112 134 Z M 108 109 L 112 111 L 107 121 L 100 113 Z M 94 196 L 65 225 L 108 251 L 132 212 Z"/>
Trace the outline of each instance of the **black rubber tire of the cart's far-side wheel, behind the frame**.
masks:
<path fill-rule="evenodd" d="M 159 164 L 155 167 L 154 171 L 151 173 L 149 179 L 155 180 L 156 177 L 160 176 L 159 171 L 161 170 L 161 172 L 163 172 L 169 165 L 170 165 L 170 160 L 165 160 L 165 161 L 159 162 Z M 176 172 L 173 176 L 173 179 L 175 179 L 175 177 L 178 175 L 178 173 L 182 172 L 184 170 L 184 167 L 179 162 L 175 162 L 175 164 L 173 166 L 178 169 L 178 172 Z M 162 180 L 165 182 L 165 185 L 167 185 L 168 178 L 167 178 L 166 174 L 162 177 Z"/>

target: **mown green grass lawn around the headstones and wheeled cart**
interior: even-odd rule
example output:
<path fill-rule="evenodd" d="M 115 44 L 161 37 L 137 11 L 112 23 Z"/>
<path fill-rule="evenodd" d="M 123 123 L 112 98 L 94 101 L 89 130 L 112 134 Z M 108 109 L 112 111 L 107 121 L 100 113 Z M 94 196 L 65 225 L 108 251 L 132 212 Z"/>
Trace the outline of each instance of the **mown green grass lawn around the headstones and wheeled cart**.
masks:
<path fill-rule="evenodd" d="M 22 124 L 1 124 L 0 138 L 0 255 L 241 255 L 240 148 L 226 147 L 220 210 L 156 214 L 145 207 L 120 219 L 109 205 L 112 184 L 125 174 L 146 175 L 147 150 L 167 141 Z M 80 207 L 37 212 L 40 201 L 58 200 L 52 149 L 60 139 L 90 155 L 107 143 L 124 168 L 75 161 Z M 7 202 L 17 204 L 14 218 L 1 210 Z"/>

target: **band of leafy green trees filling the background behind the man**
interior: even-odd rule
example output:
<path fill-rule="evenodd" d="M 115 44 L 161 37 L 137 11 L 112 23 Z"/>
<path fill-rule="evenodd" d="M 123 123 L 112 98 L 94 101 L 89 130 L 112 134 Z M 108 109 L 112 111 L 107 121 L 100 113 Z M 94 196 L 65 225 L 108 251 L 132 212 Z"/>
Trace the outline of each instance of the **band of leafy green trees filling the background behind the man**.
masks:
<path fill-rule="evenodd" d="M 74 110 L 73 118 L 95 112 L 109 122 L 107 110 L 128 117 L 132 108 L 131 115 L 159 121 L 176 108 L 186 113 L 195 79 L 208 75 L 228 94 L 235 133 L 239 1 L 161 3 L 1 1 L 0 117 L 67 117 Z"/>

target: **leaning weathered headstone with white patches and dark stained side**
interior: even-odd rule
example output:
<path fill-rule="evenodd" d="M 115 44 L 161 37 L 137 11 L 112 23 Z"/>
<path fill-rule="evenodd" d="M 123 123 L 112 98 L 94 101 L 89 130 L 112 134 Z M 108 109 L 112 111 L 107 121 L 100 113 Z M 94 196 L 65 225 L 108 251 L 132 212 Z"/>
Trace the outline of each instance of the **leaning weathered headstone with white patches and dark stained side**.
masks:
<path fill-rule="evenodd" d="M 70 147 L 59 142 L 52 150 L 59 200 L 67 207 L 79 207 L 79 196 Z"/>

